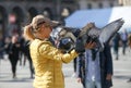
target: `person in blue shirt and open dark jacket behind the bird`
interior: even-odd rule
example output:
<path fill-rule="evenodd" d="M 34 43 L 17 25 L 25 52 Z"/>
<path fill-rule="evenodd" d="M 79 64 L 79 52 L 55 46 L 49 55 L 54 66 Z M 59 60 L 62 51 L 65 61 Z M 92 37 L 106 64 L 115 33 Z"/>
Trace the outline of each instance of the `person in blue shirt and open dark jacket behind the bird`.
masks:
<path fill-rule="evenodd" d="M 112 58 L 109 45 L 104 51 L 86 49 L 78 58 L 78 81 L 83 88 L 110 88 L 112 86 Z"/>

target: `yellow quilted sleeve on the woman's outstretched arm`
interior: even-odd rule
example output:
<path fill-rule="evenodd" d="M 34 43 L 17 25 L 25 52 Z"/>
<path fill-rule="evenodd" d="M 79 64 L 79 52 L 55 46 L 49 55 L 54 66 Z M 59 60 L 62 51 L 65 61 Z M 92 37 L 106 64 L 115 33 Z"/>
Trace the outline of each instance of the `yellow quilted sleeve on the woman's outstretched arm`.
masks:
<path fill-rule="evenodd" d="M 75 50 L 72 50 L 70 53 L 62 53 L 59 49 L 45 42 L 39 46 L 38 52 L 45 59 L 62 61 L 63 63 L 69 63 L 71 60 L 78 56 L 78 53 L 75 52 Z"/>

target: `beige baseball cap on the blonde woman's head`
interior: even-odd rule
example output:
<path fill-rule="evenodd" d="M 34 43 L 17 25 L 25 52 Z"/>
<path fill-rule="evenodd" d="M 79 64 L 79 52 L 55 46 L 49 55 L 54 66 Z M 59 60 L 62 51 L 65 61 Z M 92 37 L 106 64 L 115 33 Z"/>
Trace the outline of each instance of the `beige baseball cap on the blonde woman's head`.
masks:
<path fill-rule="evenodd" d="M 47 23 L 52 27 L 59 25 L 59 22 L 51 21 L 50 18 L 48 18 L 44 15 L 36 15 L 35 17 L 33 17 L 33 21 L 31 24 L 32 24 L 33 28 L 36 29 L 40 23 Z"/>

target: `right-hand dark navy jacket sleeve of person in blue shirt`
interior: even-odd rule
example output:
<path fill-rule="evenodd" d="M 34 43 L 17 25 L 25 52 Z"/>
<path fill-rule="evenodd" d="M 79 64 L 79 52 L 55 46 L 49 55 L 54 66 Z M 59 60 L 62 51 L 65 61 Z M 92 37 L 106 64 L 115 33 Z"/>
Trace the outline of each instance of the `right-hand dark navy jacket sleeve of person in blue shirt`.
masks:
<path fill-rule="evenodd" d="M 106 72 L 107 74 L 114 74 L 114 68 L 112 68 L 112 56 L 111 56 L 111 51 L 109 45 L 105 45 L 104 49 L 104 54 L 106 58 Z"/>

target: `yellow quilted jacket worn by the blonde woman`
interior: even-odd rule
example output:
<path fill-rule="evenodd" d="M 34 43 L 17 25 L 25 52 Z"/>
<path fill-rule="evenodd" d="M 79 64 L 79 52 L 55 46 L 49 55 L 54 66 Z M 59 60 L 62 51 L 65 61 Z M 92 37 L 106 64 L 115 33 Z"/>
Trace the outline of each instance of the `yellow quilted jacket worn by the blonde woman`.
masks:
<path fill-rule="evenodd" d="M 62 63 L 78 56 L 75 50 L 62 54 L 48 40 L 35 39 L 31 46 L 31 56 L 35 67 L 35 88 L 64 88 Z"/>

